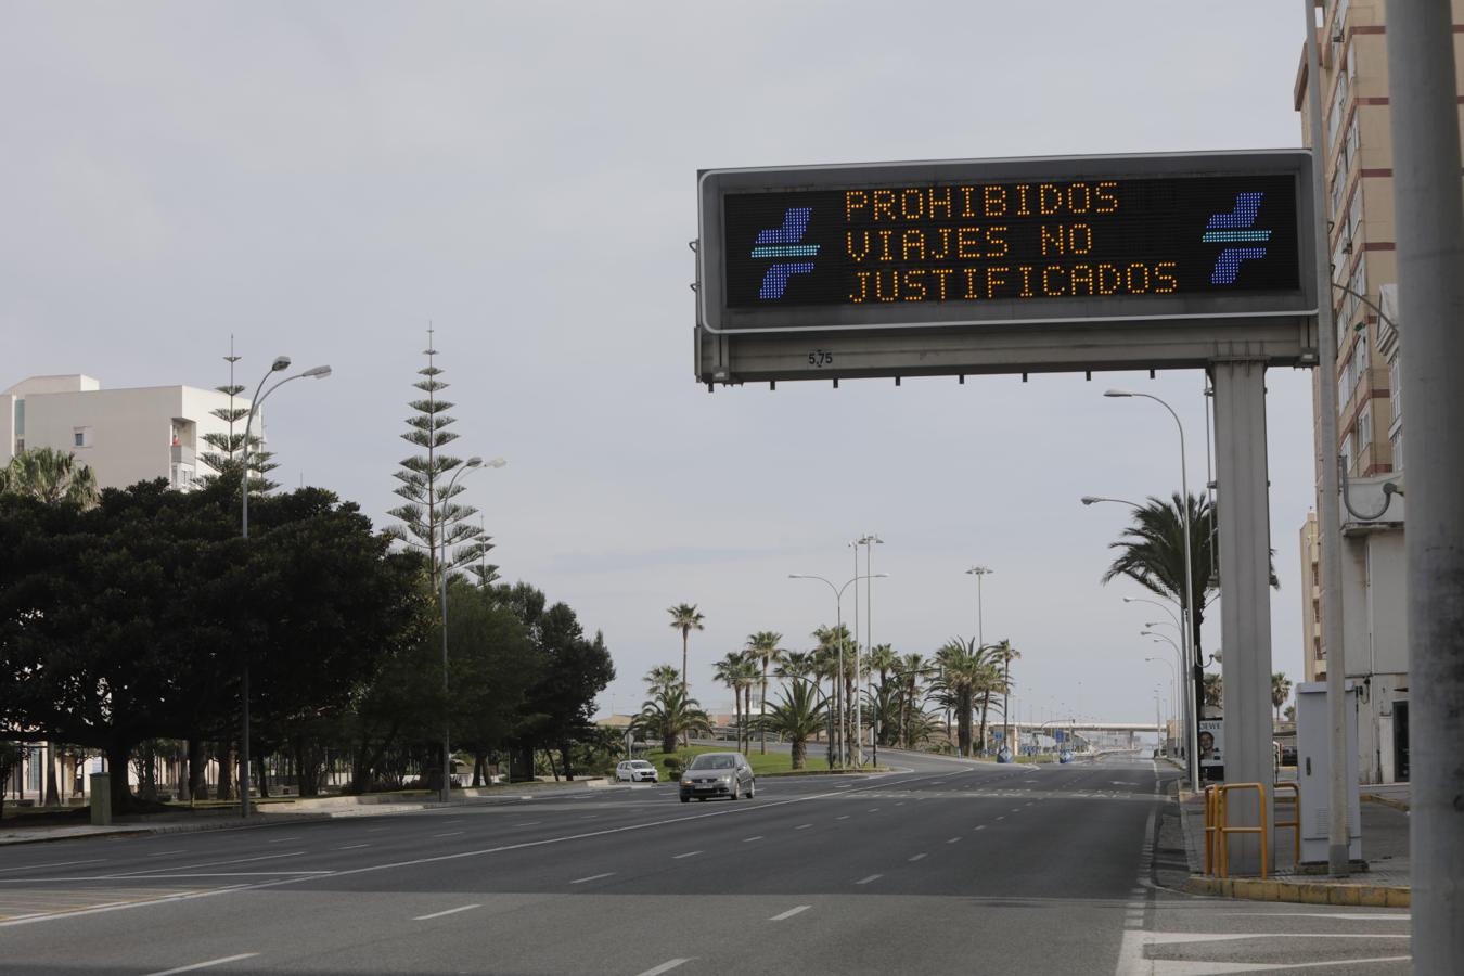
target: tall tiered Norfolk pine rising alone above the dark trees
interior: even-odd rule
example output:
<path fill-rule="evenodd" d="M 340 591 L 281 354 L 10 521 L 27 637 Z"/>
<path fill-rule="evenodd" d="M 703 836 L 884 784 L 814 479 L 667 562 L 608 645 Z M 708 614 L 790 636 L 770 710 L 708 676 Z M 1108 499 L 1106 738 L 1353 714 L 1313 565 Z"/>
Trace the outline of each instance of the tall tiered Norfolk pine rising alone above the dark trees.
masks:
<path fill-rule="evenodd" d="M 423 350 L 427 364 L 417 370 L 422 379 L 413 383 L 426 394 L 426 399 L 407 404 L 416 416 L 407 417 L 410 430 L 401 435 L 403 440 L 417 445 L 426 454 L 401 461 L 401 470 L 395 473 L 401 484 L 392 490 L 407 503 L 391 509 L 388 515 L 401 521 L 401 525 L 392 530 L 397 538 L 426 550 L 435 590 L 439 571 L 452 571 L 480 560 L 488 538 L 482 528 L 466 522 L 477 509 L 452 503 L 452 498 L 466 490 L 461 481 L 449 487 L 452 481 L 449 473 L 461 465 L 463 459 L 442 451 L 457 440 L 457 435 L 448 430 L 454 418 L 445 413 L 452 404 L 438 399 L 438 394 L 447 389 L 448 383 L 438 379 L 442 370 L 435 364 L 438 351 L 432 348 L 432 332 L 433 329 L 427 326 L 427 348 Z"/>

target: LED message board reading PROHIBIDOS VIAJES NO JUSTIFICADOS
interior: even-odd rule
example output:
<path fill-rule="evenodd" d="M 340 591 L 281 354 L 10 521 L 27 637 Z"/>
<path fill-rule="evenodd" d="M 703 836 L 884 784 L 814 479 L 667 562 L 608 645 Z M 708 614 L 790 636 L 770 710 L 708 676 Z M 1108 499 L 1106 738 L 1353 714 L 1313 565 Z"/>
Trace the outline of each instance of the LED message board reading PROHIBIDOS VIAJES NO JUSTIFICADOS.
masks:
<path fill-rule="evenodd" d="M 1315 310 L 1299 151 L 700 176 L 712 332 Z"/>

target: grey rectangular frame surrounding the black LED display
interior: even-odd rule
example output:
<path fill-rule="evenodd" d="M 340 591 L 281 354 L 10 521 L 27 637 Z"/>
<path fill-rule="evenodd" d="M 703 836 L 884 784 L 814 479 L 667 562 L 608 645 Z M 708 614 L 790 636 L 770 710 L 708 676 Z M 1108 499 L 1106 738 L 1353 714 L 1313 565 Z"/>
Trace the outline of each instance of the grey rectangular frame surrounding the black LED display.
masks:
<path fill-rule="evenodd" d="M 1312 155 L 1306 149 L 1247 149 L 1140 155 L 1028 157 L 804 167 L 703 170 L 697 177 L 697 325 L 709 334 L 849 332 L 862 329 L 1034 328 L 1105 322 L 1181 325 L 1316 315 L 1316 241 L 1312 228 Z M 870 306 L 725 304 L 722 200 L 728 193 L 842 190 L 890 184 L 1075 181 L 1105 179 L 1261 177 L 1288 174 L 1296 184 L 1297 290 L 1265 294 L 1105 296 L 974 303 Z M 1217 252 L 1218 253 L 1218 252 Z"/>

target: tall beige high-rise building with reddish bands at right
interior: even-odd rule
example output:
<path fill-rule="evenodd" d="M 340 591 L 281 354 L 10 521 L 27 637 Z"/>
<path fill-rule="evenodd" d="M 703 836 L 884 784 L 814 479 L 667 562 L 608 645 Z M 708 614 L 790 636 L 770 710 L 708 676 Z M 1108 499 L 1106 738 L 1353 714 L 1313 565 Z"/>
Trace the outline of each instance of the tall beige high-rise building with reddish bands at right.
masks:
<path fill-rule="evenodd" d="M 1464 0 L 1454 0 L 1455 60 Z M 1397 255 L 1392 202 L 1392 132 L 1388 107 L 1386 3 L 1318 3 L 1322 50 L 1321 133 L 1310 132 L 1306 53 L 1294 101 L 1306 145 L 1322 148 L 1328 249 L 1337 328 L 1337 411 L 1342 474 L 1342 587 L 1340 594 L 1301 587 L 1306 675 L 1326 673 L 1322 604 L 1340 598 L 1345 675 L 1359 691 L 1360 774 L 1364 783 L 1408 777 L 1408 647 L 1404 562 L 1403 397 L 1397 322 Z M 1461 86 L 1455 82 L 1457 86 Z M 1319 385 L 1313 386 L 1316 397 Z M 1316 416 L 1321 416 L 1318 411 Z M 1315 435 L 1313 435 L 1315 436 Z M 1318 452 L 1319 455 L 1321 452 Z M 1321 490 L 1321 470 L 1318 470 Z M 1309 536 L 1309 528 L 1312 533 Z M 1315 515 L 1301 530 L 1303 572 L 1319 559 Z M 1319 582 L 1319 581 L 1318 581 Z M 1315 616 L 1313 616 L 1315 613 Z"/>

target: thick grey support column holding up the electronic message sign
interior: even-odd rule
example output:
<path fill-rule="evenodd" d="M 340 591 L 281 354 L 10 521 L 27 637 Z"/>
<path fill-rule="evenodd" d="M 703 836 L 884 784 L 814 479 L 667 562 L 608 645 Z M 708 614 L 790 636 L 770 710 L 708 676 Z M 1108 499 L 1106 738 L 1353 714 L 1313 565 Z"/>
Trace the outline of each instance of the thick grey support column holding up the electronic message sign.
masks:
<path fill-rule="evenodd" d="M 1265 363 L 1255 360 L 1211 364 L 1215 383 L 1225 783 L 1263 783 L 1266 795 L 1265 809 L 1261 809 L 1255 793 L 1230 793 L 1228 819 L 1237 827 L 1265 824 L 1274 865 L 1265 375 Z M 1268 871 L 1272 865 L 1266 865 Z M 1231 838 L 1230 872 L 1261 872 L 1259 836 L 1236 834 Z"/>

